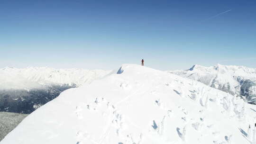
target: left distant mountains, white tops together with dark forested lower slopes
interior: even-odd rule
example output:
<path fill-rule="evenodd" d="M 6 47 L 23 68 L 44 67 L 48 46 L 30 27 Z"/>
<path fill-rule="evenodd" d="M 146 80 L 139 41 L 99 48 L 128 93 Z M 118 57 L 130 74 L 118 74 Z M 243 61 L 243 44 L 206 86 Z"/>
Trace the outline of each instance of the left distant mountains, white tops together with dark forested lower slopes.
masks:
<path fill-rule="evenodd" d="M 0 111 L 29 114 L 69 88 L 90 84 L 103 70 L 29 67 L 0 69 Z"/>

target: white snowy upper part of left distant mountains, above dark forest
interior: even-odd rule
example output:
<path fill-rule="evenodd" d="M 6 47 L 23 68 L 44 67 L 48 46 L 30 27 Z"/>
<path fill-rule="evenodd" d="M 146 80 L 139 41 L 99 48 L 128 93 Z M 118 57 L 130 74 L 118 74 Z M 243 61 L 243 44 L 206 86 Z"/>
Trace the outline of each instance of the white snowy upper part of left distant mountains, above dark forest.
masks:
<path fill-rule="evenodd" d="M 54 69 L 49 67 L 28 67 L 24 69 L 5 67 L 0 69 L 0 89 L 32 89 L 52 84 L 85 83 L 110 73 L 103 70 Z"/>

